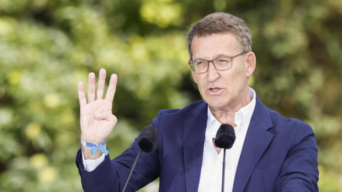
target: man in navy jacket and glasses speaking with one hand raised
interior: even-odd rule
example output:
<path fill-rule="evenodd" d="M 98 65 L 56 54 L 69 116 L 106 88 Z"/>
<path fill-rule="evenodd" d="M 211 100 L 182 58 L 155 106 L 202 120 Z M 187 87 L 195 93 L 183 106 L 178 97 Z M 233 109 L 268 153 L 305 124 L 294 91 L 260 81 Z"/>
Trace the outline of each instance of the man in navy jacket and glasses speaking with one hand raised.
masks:
<path fill-rule="evenodd" d="M 222 152 L 214 138 L 222 123 L 234 127 L 236 141 L 227 150 L 225 191 L 318 191 L 317 145 L 311 127 L 266 108 L 248 87 L 256 67 L 246 23 L 213 13 L 188 33 L 189 65 L 203 101 L 183 109 L 160 110 L 152 126 L 157 148 L 143 153 L 127 191 L 157 177 L 159 191 L 220 191 Z M 117 76 L 111 75 L 102 99 L 105 70 L 89 74 L 88 103 L 79 82 L 81 139 L 103 144 L 117 122 L 111 114 Z M 95 148 L 96 149 L 96 148 Z M 94 152 L 94 151 L 93 151 Z M 137 140 L 117 158 L 82 146 L 76 164 L 85 191 L 121 191 L 139 152 Z"/>

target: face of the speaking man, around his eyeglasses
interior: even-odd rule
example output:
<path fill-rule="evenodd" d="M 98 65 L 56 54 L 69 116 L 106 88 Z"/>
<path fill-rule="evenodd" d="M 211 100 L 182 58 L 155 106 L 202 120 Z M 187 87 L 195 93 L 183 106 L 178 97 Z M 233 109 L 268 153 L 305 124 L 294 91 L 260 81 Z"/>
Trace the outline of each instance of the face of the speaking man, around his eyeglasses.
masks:
<path fill-rule="evenodd" d="M 211 60 L 234 56 L 241 53 L 237 47 L 238 41 L 232 33 L 195 36 L 192 40 L 192 59 Z M 228 70 L 218 71 L 210 62 L 206 73 L 192 72 L 202 99 L 211 109 L 235 108 L 248 97 L 248 77 L 253 72 L 250 71 L 248 63 L 243 61 L 242 56 L 244 55 L 233 58 L 233 66 Z"/>

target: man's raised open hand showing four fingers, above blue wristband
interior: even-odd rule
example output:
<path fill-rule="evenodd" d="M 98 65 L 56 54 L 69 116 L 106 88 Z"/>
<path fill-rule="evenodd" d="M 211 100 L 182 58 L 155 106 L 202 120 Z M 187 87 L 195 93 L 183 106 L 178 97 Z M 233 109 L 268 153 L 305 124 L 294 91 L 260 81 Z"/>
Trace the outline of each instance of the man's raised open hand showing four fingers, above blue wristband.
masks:
<path fill-rule="evenodd" d="M 105 141 L 118 121 L 117 117 L 111 113 L 118 76 L 116 74 L 110 76 L 105 98 L 102 99 L 105 78 L 106 71 L 101 69 L 95 91 L 95 74 L 89 73 L 87 90 L 88 102 L 85 98 L 83 83 L 78 82 L 81 139 L 93 144 L 100 144 Z"/>

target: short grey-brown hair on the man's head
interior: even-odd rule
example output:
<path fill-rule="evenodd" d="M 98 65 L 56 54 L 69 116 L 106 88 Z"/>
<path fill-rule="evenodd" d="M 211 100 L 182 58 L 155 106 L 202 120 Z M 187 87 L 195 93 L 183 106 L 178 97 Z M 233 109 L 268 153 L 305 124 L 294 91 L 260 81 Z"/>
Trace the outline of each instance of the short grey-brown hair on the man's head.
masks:
<path fill-rule="evenodd" d="M 216 12 L 205 16 L 195 23 L 187 34 L 188 50 L 192 57 L 191 43 L 194 36 L 207 36 L 215 33 L 233 33 L 242 52 L 252 51 L 252 35 L 247 24 L 234 15 Z"/>

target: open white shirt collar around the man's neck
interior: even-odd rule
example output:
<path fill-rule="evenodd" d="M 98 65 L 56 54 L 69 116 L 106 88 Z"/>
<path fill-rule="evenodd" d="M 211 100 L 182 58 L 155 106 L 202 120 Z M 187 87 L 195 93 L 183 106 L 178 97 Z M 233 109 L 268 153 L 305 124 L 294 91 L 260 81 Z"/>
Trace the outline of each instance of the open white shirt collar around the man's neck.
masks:
<path fill-rule="evenodd" d="M 252 118 L 254 108 L 255 108 L 256 94 L 255 94 L 254 89 L 248 87 L 248 93 L 249 93 L 249 96 L 252 98 L 251 102 L 249 102 L 246 106 L 242 107 L 241 109 L 239 109 L 239 111 L 235 113 L 234 123 L 237 125 L 237 127 L 239 127 L 239 130 L 241 130 L 241 128 L 243 127 L 241 125 L 244 121 L 250 121 L 250 119 Z M 207 115 L 208 115 L 208 120 L 207 120 L 207 127 L 208 127 L 212 122 L 214 122 L 215 120 L 217 121 L 217 119 L 211 113 L 209 109 L 209 105 L 208 105 Z"/>

